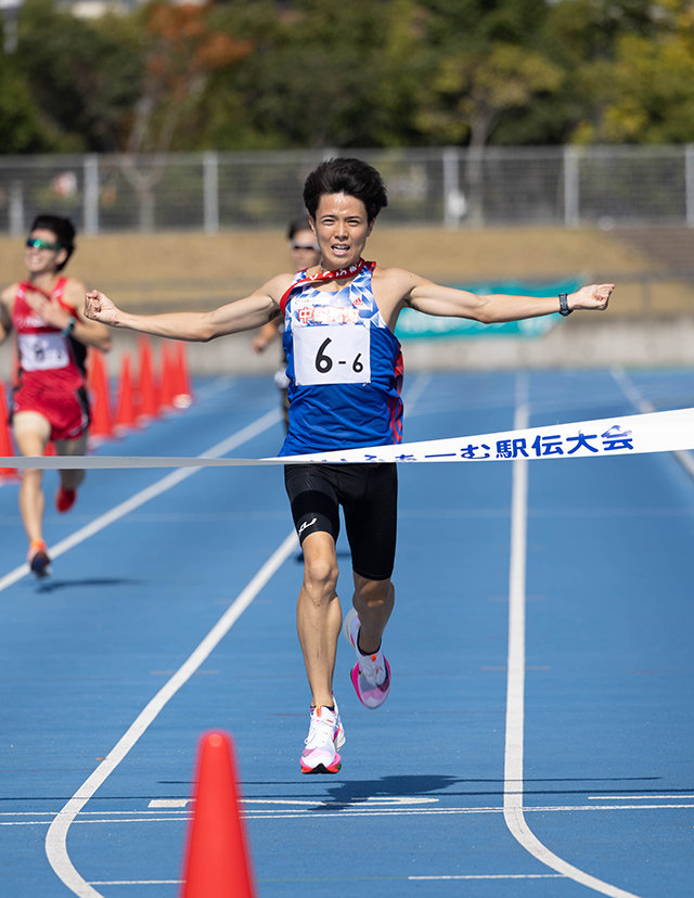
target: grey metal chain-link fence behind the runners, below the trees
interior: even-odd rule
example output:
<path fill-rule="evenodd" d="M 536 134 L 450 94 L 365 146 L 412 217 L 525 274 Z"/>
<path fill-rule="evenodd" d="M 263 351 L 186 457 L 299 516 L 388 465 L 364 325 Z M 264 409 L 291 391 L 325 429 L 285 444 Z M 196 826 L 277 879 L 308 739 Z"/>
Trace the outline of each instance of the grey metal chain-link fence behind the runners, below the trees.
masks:
<path fill-rule="evenodd" d="M 338 151 L 0 156 L 0 231 L 39 211 L 82 233 L 284 226 Z M 389 224 L 694 227 L 694 144 L 349 151 L 388 187 Z"/>

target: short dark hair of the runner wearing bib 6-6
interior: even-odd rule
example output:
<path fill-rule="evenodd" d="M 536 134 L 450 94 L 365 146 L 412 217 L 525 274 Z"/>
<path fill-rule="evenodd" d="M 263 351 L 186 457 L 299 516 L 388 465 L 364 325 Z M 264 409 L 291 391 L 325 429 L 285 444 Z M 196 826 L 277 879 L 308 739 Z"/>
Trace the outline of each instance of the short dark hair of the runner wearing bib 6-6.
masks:
<path fill-rule="evenodd" d="M 388 205 L 381 175 L 361 159 L 336 157 L 321 163 L 311 171 L 304 184 L 304 203 L 311 218 L 316 218 L 319 200 L 324 193 L 346 193 L 361 200 L 369 221 L 373 221 Z"/>

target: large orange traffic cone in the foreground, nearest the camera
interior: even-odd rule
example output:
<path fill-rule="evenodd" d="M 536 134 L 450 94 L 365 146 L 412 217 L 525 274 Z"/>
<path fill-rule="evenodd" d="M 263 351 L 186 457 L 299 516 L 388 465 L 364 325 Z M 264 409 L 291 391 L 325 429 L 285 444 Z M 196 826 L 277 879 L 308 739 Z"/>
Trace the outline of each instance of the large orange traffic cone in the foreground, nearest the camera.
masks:
<path fill-rule="evenodd" d="M 234 753 L 223 732 L 202 736 L 181 898 L 254 898 Z"/>

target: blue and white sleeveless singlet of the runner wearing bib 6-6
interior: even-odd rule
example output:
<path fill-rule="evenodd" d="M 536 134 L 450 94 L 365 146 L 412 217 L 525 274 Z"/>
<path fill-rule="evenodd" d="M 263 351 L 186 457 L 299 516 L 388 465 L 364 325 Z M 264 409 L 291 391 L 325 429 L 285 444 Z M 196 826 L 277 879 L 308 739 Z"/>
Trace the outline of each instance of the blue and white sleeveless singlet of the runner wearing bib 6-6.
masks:
<path fill-rule="evenodd" d="M 307 278 L 282 297 L 290 428 L 280 452 L 295 456 L 402 439 L 402 354 L 372 290 L 375 262 Z M 354 278 L 331 293 L 317 284 Z"/>

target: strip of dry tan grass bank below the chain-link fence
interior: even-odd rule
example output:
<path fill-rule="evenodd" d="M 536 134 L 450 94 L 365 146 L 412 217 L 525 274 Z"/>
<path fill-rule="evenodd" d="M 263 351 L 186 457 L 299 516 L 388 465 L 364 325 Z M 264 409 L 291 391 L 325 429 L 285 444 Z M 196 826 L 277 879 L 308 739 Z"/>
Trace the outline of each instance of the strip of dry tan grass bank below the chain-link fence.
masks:
<path fill-rule="evenodd" d="M 614 280 L 614 313 L 650 307 L 669 313 L 694 308 L 694 288 L 640 282 L 658 266 L 609 232 L 556 228 L 449 231 L 388 228 L 378 222 L 368 257 L 440 282 L 486 280 Z M 250 292 L 286 270 L 281 230 L 80 236 L 68 271 L 132 310 L 210 308 Z M 3 283 L 23 277 L 22 243 L 0 238 Z"/>

